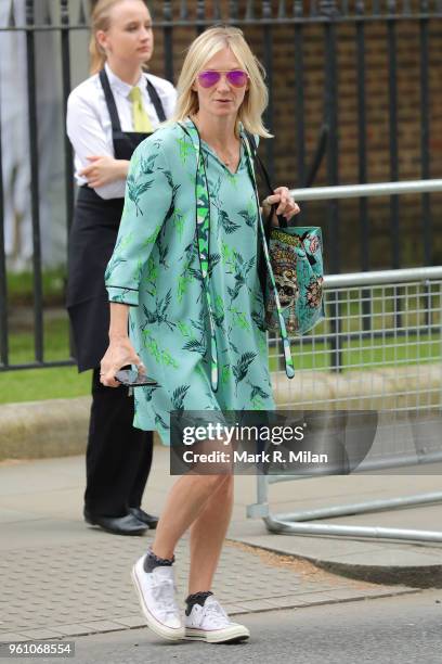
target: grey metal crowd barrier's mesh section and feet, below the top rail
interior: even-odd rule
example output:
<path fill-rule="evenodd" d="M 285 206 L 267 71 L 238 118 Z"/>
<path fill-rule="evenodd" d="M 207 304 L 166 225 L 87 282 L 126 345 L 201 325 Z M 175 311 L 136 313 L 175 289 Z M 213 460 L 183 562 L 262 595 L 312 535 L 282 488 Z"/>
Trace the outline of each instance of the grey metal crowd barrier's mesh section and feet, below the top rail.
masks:
<path fill-rule="evenodd" d="M 327 307 L 338 309 L 339 318 L 291 340 L 298 375 L 287 381 L 275 372 L 277 407 L 378 411 L 379 435 L 352 472 L 441 462 L 442 267 L 333 276 L 324 288 Z M 435 502 L 442 493 L 272 514 L 269 485 L 301 478 L 304 473 L 259 475 L 248 515 L 262 518 L 274 533 L 442 541 L 442 532 L 311 523 Z"/>

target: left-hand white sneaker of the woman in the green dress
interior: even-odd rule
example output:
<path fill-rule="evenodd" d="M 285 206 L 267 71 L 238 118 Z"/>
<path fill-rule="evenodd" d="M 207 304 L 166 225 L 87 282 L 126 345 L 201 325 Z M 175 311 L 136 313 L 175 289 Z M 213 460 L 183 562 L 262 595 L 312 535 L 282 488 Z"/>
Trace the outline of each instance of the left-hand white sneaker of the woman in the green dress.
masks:
<path fill-rule="evenodd" d="M 136 588 L 147 627 L 156 635 L 178 641 L 185 636 L 180 610 L 174 599 L 174 577 L 171 566 L 158 566 L 144 571 L 145 556 L 132 567 L 132 580 Z"/>

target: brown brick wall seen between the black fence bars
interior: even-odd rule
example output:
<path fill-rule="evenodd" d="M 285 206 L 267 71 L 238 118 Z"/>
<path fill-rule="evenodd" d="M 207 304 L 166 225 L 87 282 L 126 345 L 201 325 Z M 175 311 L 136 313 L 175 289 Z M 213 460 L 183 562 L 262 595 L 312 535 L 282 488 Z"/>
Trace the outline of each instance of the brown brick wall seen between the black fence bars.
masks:
<path fill-rule="evenodd" d="M 174 4 L 174 3 L 173 3 Z M 177 3 L 178 4 L 178 3 Z M 192 4 L 192 3 L 190 3 Z M 195 4 L 195 3 L 194 3 Z M 442 21 L 430 21 L 429 92 L 430 92 L 430 177 L 442 177 Z M 262 27 L 245 28 L 246 36 L 257 55 L 263 59 Z M 182 63 L 183 51 L 196 35 L 195 28 L 174 28 L 173 49 L 176 78 Z M 295 95 L 295 30 L 292 26 L 272 28 L 273 35 L 273 100 L 275 133 L 276 181 L 299 186 L 295 139 L 297 123 L 304 123 L 307 163 L 315 150 L 324 114 L 324 26 L 303 28 L 304 117 L 300 117 Z M 152 69 L 164 72 L 162 35 L 156 35 L 155 60 Z M 359 178 L 359 127 L 356 100 L 356 41 L 353 23 L 337 25 L 338 62 L 338 118 L 339 118 L 339 181 L 356 183 Z M 366 53 L 366 138 L 367 181 L 392 180 L 390 170 L 389 72 L 387 25 L 369 23 L 365 28 Z M 420 74 L 419 23 L 396 23 L 398 64 L 398 151 L 399 179 L 421 178 L 420 158 Z M 326 184 L 323 163 L 315 184 Z M 400 242 L 402 267 L 422 265 L 420 239 L 422 227 L 421 196 L 400 196 L 400 238 L 391 238 L 391 210 L 387 197 L 372 199 L 368 203 L 370 268 L 391 266 L 391 242 Z M 320 224 L 326 238 L 326 204 L 310 203 L 306 208 L 306 222 Z M 339 203 L 342 270 L 360 268 L 359 201 Z M 442 263 L 442 193 L 431 195 L 432 263 Z M 328 243 L 333 239 L 328 238 Z"/>

